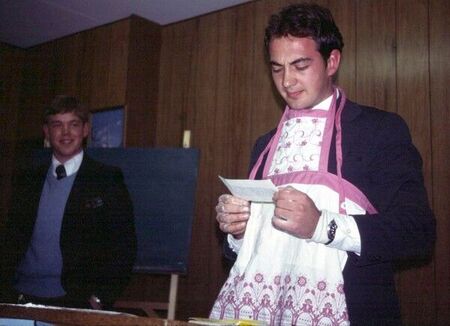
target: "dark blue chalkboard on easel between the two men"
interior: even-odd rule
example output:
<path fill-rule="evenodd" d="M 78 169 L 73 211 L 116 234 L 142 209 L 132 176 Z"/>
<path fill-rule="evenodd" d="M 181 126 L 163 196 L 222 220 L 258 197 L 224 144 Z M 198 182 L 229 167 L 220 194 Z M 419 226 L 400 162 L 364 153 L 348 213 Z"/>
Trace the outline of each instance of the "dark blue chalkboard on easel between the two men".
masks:
<path fill-rule="evenodd" d="M 122 169 L 138 238 L 135 272 L 187 273 L 199 151 L 180 148 L 88 148 L 95 160 Z M 50 152 L 34 153 L 34 164 Z"/>

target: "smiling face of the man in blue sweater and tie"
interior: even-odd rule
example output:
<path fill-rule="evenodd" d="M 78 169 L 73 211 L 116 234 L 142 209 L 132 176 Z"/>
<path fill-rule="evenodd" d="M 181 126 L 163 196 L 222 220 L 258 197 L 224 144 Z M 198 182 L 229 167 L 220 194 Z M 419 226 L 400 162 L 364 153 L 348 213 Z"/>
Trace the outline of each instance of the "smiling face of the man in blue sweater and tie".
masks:
<path fill-rule="evenodd" d="M 83 140 L 89 134 L 89 124 L 83 123 L 74 113 L 51 115 L 44 124 L 45 138 L 50 142 L 53 155 L 61 163 L 74 157 L 83 148 Z"/>

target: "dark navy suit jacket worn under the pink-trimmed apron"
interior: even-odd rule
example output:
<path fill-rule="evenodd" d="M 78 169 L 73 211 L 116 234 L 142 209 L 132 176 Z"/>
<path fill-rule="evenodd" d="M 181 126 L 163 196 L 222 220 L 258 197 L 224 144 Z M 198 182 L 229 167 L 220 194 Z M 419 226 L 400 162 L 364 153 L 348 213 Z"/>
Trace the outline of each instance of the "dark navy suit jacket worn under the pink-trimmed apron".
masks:
<path fill-rule="evenodd" d="M 347 101 L 342 113 L 342 175 L 356 185 L 378 214 L 354 216 L 361 256 L 349 252 L 344 289 L 351 325 L 399 325 L 393 262 L 430 255 L 435 219 L 429 208 L 422 160 L 408 127 L 396 114 Z M 275 130 L 260 137 L 253 167 Z M 329 171 L 336 173 L 335 135 Z M 266 157 L 267 158 L 267 157 Z M 263 162 L 257 178 L 262 177 Z M 230 255 L 230 250 L 226 252 Z"/>

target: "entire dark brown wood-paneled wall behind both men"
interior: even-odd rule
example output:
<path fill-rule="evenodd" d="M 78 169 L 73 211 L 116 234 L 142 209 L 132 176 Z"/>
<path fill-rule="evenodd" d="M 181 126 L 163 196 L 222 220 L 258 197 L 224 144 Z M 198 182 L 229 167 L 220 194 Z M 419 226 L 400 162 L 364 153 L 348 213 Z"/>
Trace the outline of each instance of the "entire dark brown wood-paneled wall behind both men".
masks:
<path fill-rule="evenodd" d="M 222 258 L 223 235 L 214 212 L 225 188 L 217 176 L 246 177 L 252 144 L 281 115 L 263 33 L 269 15 L 289 2 L 252 1 L 162 28 L 132 17 L 26 54 L 0 46 L 2 172 L 11 167 L 14 142 L 41 141 L 42 109 L 55 94 L 77 95 L 97 109 L 127 105 L 129 146 L 178 147 L 183 130 L 192 130 L 192 146 L 201 150 L 201 161 L 179 319 L 207 315 L 227 276 L 230 266 Z M 423 156 L 438 222 L 435 255 L 429 263 L 402 270 L 397 283 L 405 325 L 448 325 L 448 1 L 318 2 L 331 9 L 344 36 L 338 85 L 353 100 L 402 115 Z M 164 281 L 136 278 L 132 288 L 140 299 L 156 292 L 162 300 L 159 283 Z"/>

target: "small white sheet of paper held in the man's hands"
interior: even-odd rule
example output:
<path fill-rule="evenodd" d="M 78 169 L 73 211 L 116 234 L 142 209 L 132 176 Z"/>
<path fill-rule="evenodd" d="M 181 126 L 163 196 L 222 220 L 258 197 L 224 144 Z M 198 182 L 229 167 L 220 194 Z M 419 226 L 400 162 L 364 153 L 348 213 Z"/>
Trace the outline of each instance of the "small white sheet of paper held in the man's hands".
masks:
<path fill-rule="evenodd" d="M 225 179 L 219 175 L 233 196 L 253 202 L 272 202 L 277 187 L 271 180 Z"/>

